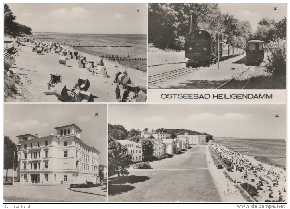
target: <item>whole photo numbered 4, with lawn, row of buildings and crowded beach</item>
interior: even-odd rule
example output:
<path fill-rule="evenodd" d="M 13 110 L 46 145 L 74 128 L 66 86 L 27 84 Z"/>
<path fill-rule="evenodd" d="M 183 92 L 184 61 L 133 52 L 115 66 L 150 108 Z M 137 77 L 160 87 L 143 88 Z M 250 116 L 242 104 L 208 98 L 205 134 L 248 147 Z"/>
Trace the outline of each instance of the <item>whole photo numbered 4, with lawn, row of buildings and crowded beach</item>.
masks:
<path fill-rule="evenodd" d="M 108 123 L 109 202 L 287 202 L 286 105 L 109 104 Z"/>

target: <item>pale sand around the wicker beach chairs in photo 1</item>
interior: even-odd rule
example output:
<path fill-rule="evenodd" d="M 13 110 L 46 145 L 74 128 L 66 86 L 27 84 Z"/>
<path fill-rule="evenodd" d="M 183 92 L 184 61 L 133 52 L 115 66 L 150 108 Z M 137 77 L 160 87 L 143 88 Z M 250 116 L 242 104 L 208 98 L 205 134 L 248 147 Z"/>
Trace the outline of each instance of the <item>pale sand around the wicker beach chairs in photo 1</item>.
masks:
<path fill-rule="evenodd" d="M 28 47 L 20 45 L 17 48 L 16 63 L 10 68 L 14 74 L 21 77 L 22 83 L 17 86 L 20 95 L 10 101 L 58 102 L 55 95 L 44 94 L 44 92 L 49 92 L 47 82 L 50 80 L 50 73 L 58 73 L 62 75 L 62 83 L 66 85 L 67 89 L 76 84 L 79 77 L 85 77 L 90 81 L 90 88 L 87 92 L 95 96 L 94 102 L 118 102 L 115 96 L 116 85 L 113 81 L 115 74 L 119 70 L 121 72 L 125 70 L 125 66 L 104 59 L 104 66 L 108 71 L 109 78 L 102 78 L 98 75 L 92 75 L 87 68 L 78 68 L 78 60 L 76 59 L 67 59 L 66 66 L 64 66 L 59 63 L 59 57 L 62 55 L 54 54 L 54 51 L 40 55 L 32 52 L 31 44 L 28 42 L 21 41 L 21 44 L 26 44 Z M 77 50 L 74 49 L 74 51 Z M 96 59 L 95 56 L 88 53 L 79 52 L 79 54 L 85 56 L 87 61 Z M 134 84 L 146 80 L 146 72 L 128 67 L 126 71 Z M 120 90 L 122 97 L 124 90 L 121 86 Z"/>

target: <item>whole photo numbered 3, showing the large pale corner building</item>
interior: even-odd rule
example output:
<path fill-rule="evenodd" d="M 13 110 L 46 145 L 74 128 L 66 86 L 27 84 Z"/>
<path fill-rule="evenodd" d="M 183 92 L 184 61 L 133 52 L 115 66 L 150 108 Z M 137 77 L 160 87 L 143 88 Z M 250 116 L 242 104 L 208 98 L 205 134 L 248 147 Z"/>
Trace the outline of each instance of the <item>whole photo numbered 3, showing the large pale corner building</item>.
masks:
<path fill-rule="evenodd" d="M 3 201 L 107 201 L 105 104 L 6 104 L 3 124 Z"/>

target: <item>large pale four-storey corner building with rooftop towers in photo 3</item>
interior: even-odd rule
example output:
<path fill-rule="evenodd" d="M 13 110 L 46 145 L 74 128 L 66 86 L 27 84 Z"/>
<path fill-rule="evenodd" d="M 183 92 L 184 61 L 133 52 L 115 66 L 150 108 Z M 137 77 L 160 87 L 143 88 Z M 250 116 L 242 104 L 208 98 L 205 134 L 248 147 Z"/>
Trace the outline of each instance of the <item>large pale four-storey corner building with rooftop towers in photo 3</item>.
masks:
<path fill-rule="evenodd" d="M 97 182 L 100 152 L 80 139 L 82 130 L 77 125 L 55 129 L 57 136 L 17 136 L 18 179 L 34 183 Z"/>

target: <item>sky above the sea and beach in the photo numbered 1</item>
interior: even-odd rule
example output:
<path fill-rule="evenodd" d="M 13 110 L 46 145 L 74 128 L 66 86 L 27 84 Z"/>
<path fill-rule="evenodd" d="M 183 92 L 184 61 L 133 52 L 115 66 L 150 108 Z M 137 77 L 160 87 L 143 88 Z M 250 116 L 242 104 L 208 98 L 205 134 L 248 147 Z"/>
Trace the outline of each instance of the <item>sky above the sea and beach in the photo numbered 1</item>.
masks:
<path fill-rule="evenodd" d="M 34 32 L 146 34 L 146 3 L 7 3 Z M 137 11 L 139 10 L 139 11 Z"/>

